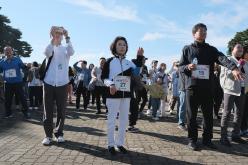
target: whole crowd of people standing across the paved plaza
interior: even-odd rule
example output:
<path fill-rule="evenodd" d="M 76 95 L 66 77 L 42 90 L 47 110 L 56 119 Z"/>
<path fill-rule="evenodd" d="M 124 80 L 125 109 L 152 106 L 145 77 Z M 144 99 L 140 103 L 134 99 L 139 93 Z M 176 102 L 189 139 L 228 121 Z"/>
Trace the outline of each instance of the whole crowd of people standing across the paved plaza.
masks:
<path fill-rule="evenodd" d="M 205 42 L 207 26 L 202 23 L 193 27 L 192 35 L 194 42 L 183 48 L 181 59 L 173 62 L 169 71 L 167 65 L 158 60 L 152 60 L 148 68 L 141 47 L 136 57 L 128 60 L 128 42 L 122 36 L 116 37 L 110 45 L 112 56 L 100 57 L 98 66 L 89 64 L 87 67 L 86 59 L 80 59 L 71 67 L 69 60 L 74 49 L 69 34 L 57 26 L 50 31 L 51 42 L 45 49 L 43 72 L 37 62 L 25 65 L 14 56 L 11 46 L 6 46 L 5 57 L 0 61 L 0 101 L 5 104 L 5 118 L 13 117 L 14 96 L 15 103 L 21 103 L 26 119 L 32 117 L 31 110 L 43 108 L 45 138 L 42 144 L 50 145 L 53 135 L 55 141 L 63 143 L 65 109 L 67 104 L 74 105 L 72 97 L 75 96 L 77 111 L 86 111 L 90 101 L 96 103 L 96 115 L 103 113 L 102 107 L 105 107 L 111 155 L 117 150 L 128 152 L 124 147 L 126 131 L 138 131 L 136 123 L 144 115 L 157 121 L 176 113 L 178 128 L 188 132 L 191 150 L 199 148 L 196 120 L 199 111 L 203 116 L 204 146 L 217 149 L 212 143 L 213 119 L 220 121 L 222 145 L 230 147 L 231 141 L 245 144 L 242 136 L 248 136 L 248 49 L 236 43 L 231 56 L 225 56 Z M 63 38 L 66 45 L 62 44 Z M 83 108 L 80 107 L 81 96 Z M 148 109 L 145 109 L 146 105 Z M 234 119 L 229 139 L 227 130 L 231 113 Z M 118 130 L 116 137 L 115 130 Z"/>

